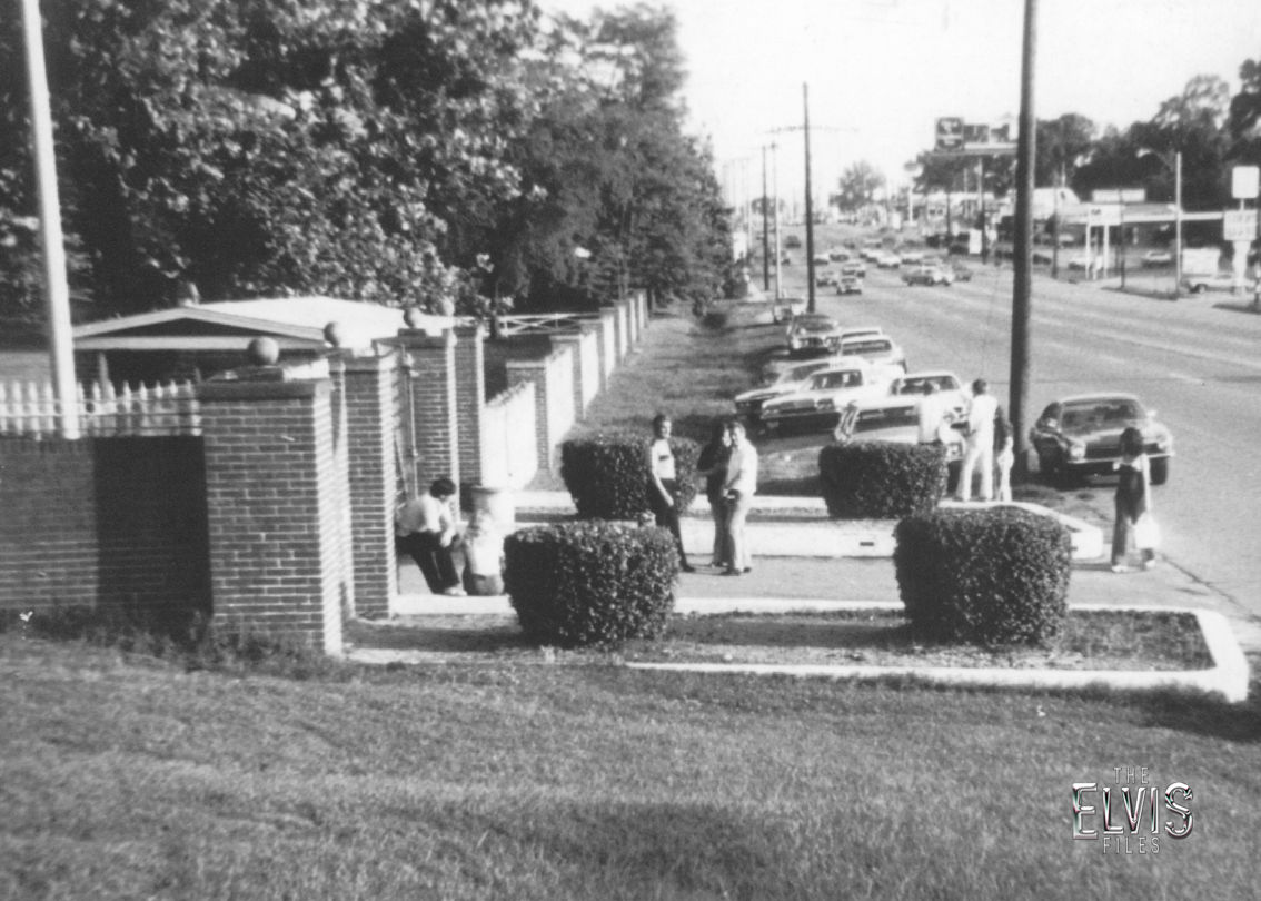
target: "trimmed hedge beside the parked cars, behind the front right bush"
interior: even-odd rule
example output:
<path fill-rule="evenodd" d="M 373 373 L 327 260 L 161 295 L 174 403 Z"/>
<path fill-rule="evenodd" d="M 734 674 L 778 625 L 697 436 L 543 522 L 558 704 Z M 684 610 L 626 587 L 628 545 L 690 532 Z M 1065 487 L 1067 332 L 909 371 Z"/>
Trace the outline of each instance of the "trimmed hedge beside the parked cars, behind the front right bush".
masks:
<path fill-rule="evenodd" d="M 832 519 L 927 514 L 946 493 L 946 452 L 932 444 L 827 444 L 818 452 L 818 481 Z"/>

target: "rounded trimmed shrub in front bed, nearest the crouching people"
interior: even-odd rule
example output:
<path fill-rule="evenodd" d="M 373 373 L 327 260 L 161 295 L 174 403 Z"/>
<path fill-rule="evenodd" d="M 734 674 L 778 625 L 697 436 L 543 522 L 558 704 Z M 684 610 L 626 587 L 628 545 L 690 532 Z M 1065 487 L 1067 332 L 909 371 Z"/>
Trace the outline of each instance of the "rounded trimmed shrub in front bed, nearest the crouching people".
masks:
<path fill-rule="evenodd" d="M 533 526 L 503 543 L 504 591 L 521 628 L 560 647 L 661 633 L 675 603 L 670 533 L 598 520 Z"/>

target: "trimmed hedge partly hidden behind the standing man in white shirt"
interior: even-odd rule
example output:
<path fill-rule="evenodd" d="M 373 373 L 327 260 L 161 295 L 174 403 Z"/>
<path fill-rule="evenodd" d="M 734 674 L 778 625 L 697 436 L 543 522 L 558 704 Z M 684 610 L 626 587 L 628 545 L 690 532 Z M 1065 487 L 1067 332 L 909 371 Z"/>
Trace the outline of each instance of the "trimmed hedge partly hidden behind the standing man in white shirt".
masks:
<path fill-rule="evenodd" d="M 574 498 L 580 519 L 633 520 L 648 505 L 648 445 L 651 433 L 617 430 L 571 438 L 560 445 L 560 477 Z M 678 512 L 696 497 L 700 444 L 671 438 L 678 474 Z"/>

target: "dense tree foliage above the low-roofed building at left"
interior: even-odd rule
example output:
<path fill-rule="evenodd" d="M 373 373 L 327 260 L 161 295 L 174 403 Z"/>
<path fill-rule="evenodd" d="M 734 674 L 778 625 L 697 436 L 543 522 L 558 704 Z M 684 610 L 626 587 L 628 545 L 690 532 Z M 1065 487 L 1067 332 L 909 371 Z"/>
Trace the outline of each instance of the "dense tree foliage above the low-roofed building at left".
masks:
<path fill-rule="evenodd" d="M 716 284 L 725 218 L 681 131 L 666 13 L 551 26 L 532 0 L 44 6 L 71 280 L 102 313 L 169 305 L 184 283 L 473 313 Z M 5 18 L 0 313 L 38 285 L 20 49 Z"/>

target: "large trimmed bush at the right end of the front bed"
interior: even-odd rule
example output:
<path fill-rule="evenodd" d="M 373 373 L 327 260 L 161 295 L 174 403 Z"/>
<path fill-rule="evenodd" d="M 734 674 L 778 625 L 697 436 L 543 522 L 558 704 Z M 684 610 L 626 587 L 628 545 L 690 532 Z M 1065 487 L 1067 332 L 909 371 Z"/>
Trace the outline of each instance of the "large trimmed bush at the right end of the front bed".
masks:
<path fill-rule="evenodd" d="M 1045 644 L 1068 612 L 1072 541 L 1019 507 L 910 516 L 894 530 L 894 569 L 912 631 L 931 641 Z"/>

